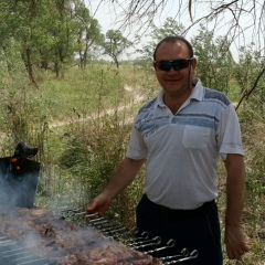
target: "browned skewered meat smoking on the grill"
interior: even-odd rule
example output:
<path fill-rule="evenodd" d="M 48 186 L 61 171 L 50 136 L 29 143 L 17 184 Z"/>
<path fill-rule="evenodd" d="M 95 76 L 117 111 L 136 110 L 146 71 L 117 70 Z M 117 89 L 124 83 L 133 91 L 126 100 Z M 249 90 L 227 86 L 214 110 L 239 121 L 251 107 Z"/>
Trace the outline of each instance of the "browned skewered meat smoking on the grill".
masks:
<path fill-rule="evenodd" d="M 156 265 L 159 259 L 39 209 L 0 209 L 0 234 L 56 265 Z"/>

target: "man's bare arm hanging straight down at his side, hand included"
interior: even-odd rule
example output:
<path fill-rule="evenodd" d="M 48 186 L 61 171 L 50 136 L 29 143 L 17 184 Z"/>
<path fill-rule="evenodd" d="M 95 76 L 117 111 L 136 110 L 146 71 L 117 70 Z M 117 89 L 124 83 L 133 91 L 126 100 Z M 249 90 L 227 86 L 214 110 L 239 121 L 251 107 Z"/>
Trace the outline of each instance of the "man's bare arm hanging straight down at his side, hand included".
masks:
<path fill-rule="evenodd" d="M 241 155 L 229 153 L 226 179 L 225 244 L 229 258 L 240 259 L 248 251 L 241 226 L 245 197 L 245 166 Z"/>

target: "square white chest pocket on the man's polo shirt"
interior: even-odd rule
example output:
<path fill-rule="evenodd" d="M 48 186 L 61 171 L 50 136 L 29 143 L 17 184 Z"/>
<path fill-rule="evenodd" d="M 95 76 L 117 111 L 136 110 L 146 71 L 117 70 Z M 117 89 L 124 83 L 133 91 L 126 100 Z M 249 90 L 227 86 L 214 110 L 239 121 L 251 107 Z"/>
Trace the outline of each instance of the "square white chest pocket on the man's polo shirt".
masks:
<path fill-rule="evenodd" d="M 203 149 L 210 138 L 210 128 L 186 125 L 182 145 L 189 149 Z"/>

